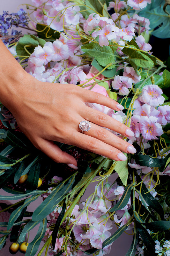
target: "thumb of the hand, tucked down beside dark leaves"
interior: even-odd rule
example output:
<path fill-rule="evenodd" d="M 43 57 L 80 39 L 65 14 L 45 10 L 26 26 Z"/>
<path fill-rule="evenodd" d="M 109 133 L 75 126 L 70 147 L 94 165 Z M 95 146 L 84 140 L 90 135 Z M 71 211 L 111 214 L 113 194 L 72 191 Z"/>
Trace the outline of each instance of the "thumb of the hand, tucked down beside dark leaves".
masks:
<path fill-rule="evenodd" d="M 41 140 L 41 142 L 39 142 L 39 149 L 55 162 L 68 164 L 71 168 L 78 169 L 76 159 L 62 151 L 53 141 Z"/>

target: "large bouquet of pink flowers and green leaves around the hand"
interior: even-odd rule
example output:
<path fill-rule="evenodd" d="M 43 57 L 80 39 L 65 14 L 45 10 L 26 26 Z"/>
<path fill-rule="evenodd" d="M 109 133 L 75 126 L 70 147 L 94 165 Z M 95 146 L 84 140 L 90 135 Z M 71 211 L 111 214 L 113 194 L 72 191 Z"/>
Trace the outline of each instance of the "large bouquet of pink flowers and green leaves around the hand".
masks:
<path fill-rule="evenodd" d="M 56 256 L 105 255 L 132 229 L 126 256 L 170 255 L 170 59 L 159 60 L 148 43 L 151 33 L 170 37 L 169 1 L 32 0 L 26 9 L 0 15 L 1 37 L 11 53 L 40 81 L 77 84 L 122 104 L 124 110 L 113 111 L 86 103 L 128 125 L 134 136 L 110 132 L 137 153 L 117 162 L 58 143 L 78 161 L 73 171 L 34 148 L 1 105 L 0 188 L 12 195 L 0 199 L 18 201 L 1 204 L 1 212 L 11 215 L 8 223 L 0 222 L 6 227 L 0 249 L 10 239 L 10 252 L 20 247 L 26 256 L 44 250 Z M 12 29 L 9 35 L 11 27 L 29 33 Z M 110 182 L 115 172 L 118 178 Z M 94 181 L 94 192 L 83 201 Z M 41 196 L 34 212 L 27 211 Z M 28 244 L 26 235 L 36 225 Z"/>

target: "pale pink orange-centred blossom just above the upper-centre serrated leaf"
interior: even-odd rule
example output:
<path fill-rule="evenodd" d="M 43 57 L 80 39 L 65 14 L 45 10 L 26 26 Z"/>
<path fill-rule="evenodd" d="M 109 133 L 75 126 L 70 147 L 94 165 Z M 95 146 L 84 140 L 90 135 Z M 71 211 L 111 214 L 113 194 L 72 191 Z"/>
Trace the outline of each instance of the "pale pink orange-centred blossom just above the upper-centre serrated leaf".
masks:
<path fill-rule="evenodd" d="M 115 27 L 114 25 L 106 25 L 106 27 L 99 30 L 99 44 L 100 46 L 108 45 L 109 41 L 112 39 L 116 39 L 116 33 L 115 31 L 119 31 L 119 28 Z"/>

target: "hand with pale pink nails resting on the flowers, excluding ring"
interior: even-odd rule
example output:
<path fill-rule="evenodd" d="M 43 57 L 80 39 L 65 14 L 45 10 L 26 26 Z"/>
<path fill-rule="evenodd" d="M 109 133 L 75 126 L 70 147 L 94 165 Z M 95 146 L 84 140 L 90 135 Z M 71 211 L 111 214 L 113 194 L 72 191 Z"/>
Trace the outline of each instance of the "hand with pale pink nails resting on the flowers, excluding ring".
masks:
<path fill-rule="evenodd" d="M 24 89 L 15 93 L 9 109 L 33 145 L 54 161 L 77 166 L 74 157 L 53 141 L 75 145 L 116 161 L 126 160 L 122 152 L 136 152 L 131 144 L 100 127 L 132 136 L 126 125 L 85 105 L 92 102 L 120 110 L 115 100 L 73 84 L 43 83 L 27 73 L 22 85 Z M 81 133 L 78 128 L 82 120 L 91 123 L 88 132 Z"/>

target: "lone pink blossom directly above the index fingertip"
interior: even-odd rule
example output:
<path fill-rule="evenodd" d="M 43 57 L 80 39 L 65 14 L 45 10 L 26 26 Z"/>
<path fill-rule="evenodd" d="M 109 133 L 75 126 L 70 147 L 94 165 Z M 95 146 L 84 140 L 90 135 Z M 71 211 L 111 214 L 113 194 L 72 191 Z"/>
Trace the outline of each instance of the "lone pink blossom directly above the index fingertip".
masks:
<path fill-rule="evenodd" d="M 128 95 L 128 88 L 132 88 L 132 79 L 126 76 L 115 76 L 112 87 L 115 90 L 119 89 L 119 95 Z"/>

